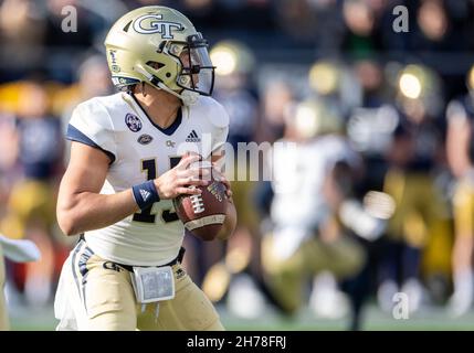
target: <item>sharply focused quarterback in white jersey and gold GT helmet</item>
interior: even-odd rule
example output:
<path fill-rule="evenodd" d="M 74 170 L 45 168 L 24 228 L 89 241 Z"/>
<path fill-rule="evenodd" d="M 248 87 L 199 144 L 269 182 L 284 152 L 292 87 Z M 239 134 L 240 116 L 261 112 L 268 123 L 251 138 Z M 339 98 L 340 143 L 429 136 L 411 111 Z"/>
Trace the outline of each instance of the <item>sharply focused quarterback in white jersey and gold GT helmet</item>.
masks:
<path fill-rule="evenodd" d="M 211 171 L 196 162 L 218 169 L 228 136 L 228 114 L 210 97 L 207 41 L 180 12 L 152 6 L 120 18 L 105 46 L 119 93 L 80 104 L 66 132 L 57 221 L 81 237 L 63 265 L 57 330 L 222 330 L 180 265 L 185 227 L 172 205 L 200 193 Z M 215 172 L 228 188 L 217 235 L 227 239 L 236 215 L 230 184 Z"/>

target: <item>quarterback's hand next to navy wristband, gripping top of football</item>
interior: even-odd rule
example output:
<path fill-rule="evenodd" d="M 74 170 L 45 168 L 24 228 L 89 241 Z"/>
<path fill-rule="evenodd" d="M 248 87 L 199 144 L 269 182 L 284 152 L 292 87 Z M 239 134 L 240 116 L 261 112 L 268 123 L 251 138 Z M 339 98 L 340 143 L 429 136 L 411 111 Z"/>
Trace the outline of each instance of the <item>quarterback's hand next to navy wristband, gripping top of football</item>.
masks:
<path fill-rule="evenodd" d="M 206 176 L 210 171 L 201 168 L 189 168 L 199 161 L 200 157 L 192 154 L 181 158 L 172 169 L 155 179 L 155 186 L 161 200 L 175 199 L 180 194 L 200 194 L 201 190 L 194 186 L 208 185 Z M 204 180 L 203 180 L 204 179 Z"/>

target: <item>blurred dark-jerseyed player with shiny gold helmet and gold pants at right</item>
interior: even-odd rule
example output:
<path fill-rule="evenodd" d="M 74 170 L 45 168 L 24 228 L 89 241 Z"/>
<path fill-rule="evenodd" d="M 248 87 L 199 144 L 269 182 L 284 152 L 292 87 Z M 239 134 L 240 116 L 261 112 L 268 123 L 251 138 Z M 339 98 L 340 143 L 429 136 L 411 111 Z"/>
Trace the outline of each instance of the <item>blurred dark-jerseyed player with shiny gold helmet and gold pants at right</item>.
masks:
<path fill-rule="evenodd" d="M 411 312 L 421 308 L 428 299 L 421 278 L 426 250 L 449 235 L 447 207 L 436 183 L 444 158 L 440 89 L 440 78 L 428 67 L 409 65 L 399 73 L 399 121 L 386 152 L 383 184 L 396 212 L 387 231 L 378 291 L 379 303 L 390 312 L 398 291 L 409 296 Z"/>

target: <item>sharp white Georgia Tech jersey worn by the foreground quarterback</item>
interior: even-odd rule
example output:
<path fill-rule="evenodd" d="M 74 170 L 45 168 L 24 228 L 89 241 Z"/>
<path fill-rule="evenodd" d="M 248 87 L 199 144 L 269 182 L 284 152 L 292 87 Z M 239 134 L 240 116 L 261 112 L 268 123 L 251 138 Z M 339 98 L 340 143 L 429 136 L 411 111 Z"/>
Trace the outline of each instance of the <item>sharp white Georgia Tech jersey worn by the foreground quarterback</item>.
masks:
<path fill-rule="evenodd" d="M 210 97 L 181 107 L 167 129 L 155 125 L 127 93 L 97 97 L 74 110 L 66 138 L 103 150 L 110 167 L 102 194 L 114 194 L 155 179 L 187 151 L 208 158 L 225 142 L 229 116 Z M 98 256 L 124 265 L 159 266 L 175 259 L 185 235 L 171 200 L 162 200 L 108 227 L 85 233 Z"/>

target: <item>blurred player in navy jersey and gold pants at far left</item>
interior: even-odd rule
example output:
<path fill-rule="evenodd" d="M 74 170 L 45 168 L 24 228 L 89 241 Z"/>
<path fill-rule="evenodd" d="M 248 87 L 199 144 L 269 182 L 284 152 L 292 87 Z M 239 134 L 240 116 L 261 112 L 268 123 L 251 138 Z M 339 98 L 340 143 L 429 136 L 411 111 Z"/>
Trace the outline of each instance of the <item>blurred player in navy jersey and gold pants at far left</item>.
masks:
<path fill-rule="evenodd" d="M 38 244 L 42 259 L 27 266 L 24 293 L 30 303 L 44 304 L 51 298 L 54 274 L 55 176 L 61 165 L 63 143 L 60 119 L 49 114 L 49 97 L 36 81 L 21 89 L 15 131 L 17 164 L 22 171 L 10 193 L 0 232 Z"/>

